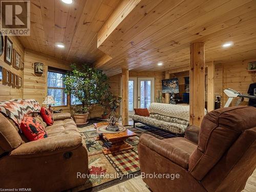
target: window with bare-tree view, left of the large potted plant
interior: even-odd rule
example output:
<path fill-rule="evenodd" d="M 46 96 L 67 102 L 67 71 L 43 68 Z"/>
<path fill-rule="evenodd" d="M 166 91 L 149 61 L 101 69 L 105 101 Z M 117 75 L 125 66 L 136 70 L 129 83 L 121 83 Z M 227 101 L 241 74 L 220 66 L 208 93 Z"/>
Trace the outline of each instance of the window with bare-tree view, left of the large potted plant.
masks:
<path fill-rule="evenodd" d="M 63 82 L 65 74 L 48 71 L 48 95 L 52 95 L 54 106 L 67 105 L 67 94 L 65 93 L 65 84 Z"/>

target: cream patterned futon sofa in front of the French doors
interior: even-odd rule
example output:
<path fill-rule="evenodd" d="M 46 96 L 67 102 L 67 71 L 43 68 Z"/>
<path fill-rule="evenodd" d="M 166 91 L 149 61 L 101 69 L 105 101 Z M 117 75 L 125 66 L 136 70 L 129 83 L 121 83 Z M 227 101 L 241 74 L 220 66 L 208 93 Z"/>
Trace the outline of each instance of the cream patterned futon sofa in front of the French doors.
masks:
<path fill-rule="evenodd" d="M 189 124 L 189 105 L 151 103 L 149 117 L 133 115 L 135 123 L 143 123 L 175 134 L 184 134 Z"/>

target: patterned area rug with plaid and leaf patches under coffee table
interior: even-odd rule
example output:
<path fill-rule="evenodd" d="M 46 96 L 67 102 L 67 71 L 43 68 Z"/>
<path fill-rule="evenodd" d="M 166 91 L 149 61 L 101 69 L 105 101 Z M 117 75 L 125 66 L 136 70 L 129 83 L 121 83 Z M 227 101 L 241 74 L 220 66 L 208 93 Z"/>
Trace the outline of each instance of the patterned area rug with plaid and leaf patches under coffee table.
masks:
<path fill-rule="evenodd" d="M 78 128 L 89 153 L 90 178 L 84 185 L 73 188 L 70 191 L 98 191 L 131 179 L 133 176 L 138 176 L 140 174 L 140 165 L 137 145 L 142 134 L 150 134 L 159 139 L 175 137 L 172 134 L 144 125 L 136 126 L 136 128 L 126 126 L 126 128 L 137 134 L 135 137 L 126 139 L 126 142 L 130 143 L 134 148 L 109 155 L 104 155 L 101 151 L 109 143 L 94 139 L 94 137 L 98 136 L 94 125 Z"/>

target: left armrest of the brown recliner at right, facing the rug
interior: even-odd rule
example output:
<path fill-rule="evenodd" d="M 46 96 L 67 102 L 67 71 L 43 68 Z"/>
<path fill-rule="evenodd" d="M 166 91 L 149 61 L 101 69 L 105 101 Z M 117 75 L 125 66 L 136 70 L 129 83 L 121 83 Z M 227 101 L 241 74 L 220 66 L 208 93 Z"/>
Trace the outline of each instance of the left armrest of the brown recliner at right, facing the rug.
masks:
<path fill-rule="evenodd" d="M 139 144 L 145 145 L 146 147 L 150 148 L 152 151 L 182 166 L 185 169 L 188 168 L 188 159 L 190 154 L 185 152 L 179 147 L 176 147 L 164 140 L 157 139 L 147 134 L 143 134 L 140 137 Z M 194 144 L 191 143 L 191 145 L 194 145 Z"/>

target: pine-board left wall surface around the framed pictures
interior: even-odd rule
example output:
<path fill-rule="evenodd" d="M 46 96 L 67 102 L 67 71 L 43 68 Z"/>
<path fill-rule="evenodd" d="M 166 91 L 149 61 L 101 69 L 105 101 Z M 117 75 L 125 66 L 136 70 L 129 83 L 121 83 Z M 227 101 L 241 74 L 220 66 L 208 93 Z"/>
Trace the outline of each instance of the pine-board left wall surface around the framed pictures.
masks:
<path fill-rule="evenodd" d="M 20 54 L 21 59 L 24 61 L 24 47 L 22 46 L 22 44 L 20 44 L 20 41 L 18 40 L 17 37 L 9 36 L 9 38 L 13 42 L 13 48 Z M 4 37 L 4 41 L 5 41 L 5 37 Z M 4 55 L 5 55 L 5 51 L 0 56 L 0 66 L 11 71 L 12 73 L 17 74 L 19 77 L 23 78 L 24 70 L 16 70 L 12 66 L 8 65 L 4 61 Z M 3 85 L 2 82 L 3 81 L 0 81 L 0 101 L 23 98 L 23 87 L 20 89 L 16 89 L 16 88 Z"/>

